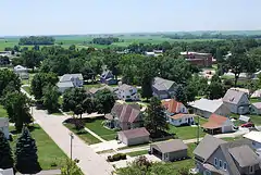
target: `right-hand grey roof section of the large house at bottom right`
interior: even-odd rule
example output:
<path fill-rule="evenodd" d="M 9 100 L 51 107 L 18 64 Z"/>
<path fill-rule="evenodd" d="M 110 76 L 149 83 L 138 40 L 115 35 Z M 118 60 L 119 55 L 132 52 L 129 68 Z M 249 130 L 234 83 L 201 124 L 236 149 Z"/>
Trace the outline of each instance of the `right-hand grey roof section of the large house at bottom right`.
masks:
<path fill-rule="evenodd" d="M 228 152 L 240 167 L 246 167 L 254 164 L 259 164 L 259 158 L 248 146 L 229 148 Z"/>

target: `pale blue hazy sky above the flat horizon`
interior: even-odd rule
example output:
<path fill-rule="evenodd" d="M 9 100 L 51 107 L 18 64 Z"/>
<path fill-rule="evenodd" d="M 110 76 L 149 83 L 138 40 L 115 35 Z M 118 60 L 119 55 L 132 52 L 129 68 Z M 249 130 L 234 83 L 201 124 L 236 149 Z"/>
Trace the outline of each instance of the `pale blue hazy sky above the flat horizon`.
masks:
<path fill-rule="evenodd" d="M 0 36 L 261 29 L 261 0 L 0 0 Z"/>

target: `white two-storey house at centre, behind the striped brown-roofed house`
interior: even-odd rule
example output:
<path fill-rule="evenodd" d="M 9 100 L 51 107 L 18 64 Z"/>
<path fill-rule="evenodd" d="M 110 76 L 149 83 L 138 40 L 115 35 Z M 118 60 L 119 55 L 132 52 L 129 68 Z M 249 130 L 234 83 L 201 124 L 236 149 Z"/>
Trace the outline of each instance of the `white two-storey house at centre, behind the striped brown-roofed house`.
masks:
<path fill-rule="evenodd" d="M 124 101 L 139 100 L 137 88 L 130 85 L 126 85 L 126 84 L 120 85 L 116 93 L 117 93 L 117 99 L 121 99 Z"/>

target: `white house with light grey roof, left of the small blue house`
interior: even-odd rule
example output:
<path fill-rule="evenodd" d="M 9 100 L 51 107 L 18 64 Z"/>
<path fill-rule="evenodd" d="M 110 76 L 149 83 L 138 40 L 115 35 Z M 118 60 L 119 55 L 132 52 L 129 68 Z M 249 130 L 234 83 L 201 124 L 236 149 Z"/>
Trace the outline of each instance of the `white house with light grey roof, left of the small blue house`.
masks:
<path fill-rule="evenodd" d="M 60 92 L 64 92 L 66 89 L 73 87 L 82 87 L 83 85 L 84 78 L 82 74 L 64 74 L 57 84 Z"/>

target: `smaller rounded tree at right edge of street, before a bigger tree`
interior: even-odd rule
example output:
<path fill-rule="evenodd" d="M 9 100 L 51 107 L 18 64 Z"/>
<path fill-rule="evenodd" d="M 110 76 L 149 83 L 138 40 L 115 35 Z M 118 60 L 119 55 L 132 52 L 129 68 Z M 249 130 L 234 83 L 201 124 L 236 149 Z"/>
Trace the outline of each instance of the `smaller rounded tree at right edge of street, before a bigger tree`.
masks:
<path fill-rule="evenodd" d="M 47 85 L 44 88 L 42 104 L 47 109 L 48 113 L 58 111 L 60 107 L 59 97 L 60 97 L 60 92 L 58 91 L 57 86 Z"/>

